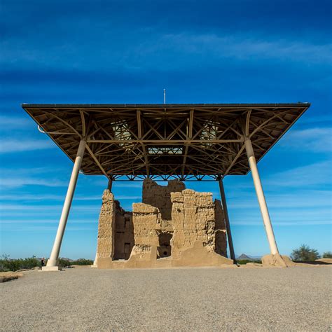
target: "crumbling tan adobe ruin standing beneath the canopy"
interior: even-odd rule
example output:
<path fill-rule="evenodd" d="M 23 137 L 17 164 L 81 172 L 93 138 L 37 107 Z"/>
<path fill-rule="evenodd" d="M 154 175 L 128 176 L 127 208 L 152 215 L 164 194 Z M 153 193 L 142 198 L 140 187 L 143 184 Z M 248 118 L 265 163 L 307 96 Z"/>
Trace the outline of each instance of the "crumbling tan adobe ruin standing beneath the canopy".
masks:
<path fill-rule="evenodd" d="M 141 203 L 120 207 L 108 189 L 99 216 L 98 268 L 170 268 L 233 264 L 227 258 L 223 207 L 212 193 L 183 182 L 145 179 Z"/>

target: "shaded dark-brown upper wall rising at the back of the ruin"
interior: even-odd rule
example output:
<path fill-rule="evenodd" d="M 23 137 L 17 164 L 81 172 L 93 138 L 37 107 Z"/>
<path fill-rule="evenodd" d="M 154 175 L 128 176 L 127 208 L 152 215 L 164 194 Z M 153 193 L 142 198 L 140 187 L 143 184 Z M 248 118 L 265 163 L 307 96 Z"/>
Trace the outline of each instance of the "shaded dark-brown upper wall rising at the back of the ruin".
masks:
<path fill-rule="evenodd" d="M 183 182 L 178 180 L 168 181 L 167 186 L 160 186 L 151 179 L 143 182 L 142 202 L 153 207 L 158 207 L 162 219 L 172 219 L 171 193 L 181 192 L 186 189 Z"/>

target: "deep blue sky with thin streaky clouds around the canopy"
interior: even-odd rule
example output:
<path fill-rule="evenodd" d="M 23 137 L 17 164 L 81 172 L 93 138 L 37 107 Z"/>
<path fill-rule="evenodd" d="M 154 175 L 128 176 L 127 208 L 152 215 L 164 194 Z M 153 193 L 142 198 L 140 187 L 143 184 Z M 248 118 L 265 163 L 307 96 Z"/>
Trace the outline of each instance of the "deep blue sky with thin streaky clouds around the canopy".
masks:
<path fill-rule="evenodd" d="M 21 103 L 310 102 L 259 162 L 282 254 L 331 250 L 330 1 L 1 1 L 0 254 L 50 254 L 72 163 Z M 251 174 L 226 177 L 235 253 L 269 252 Z M 93 258 L 104 177 L 80 175 L 61 256 Z M 188 182 L 210 191 L 214 183 Z M 118 182 L 125 209 L 141 183 Z"/>

